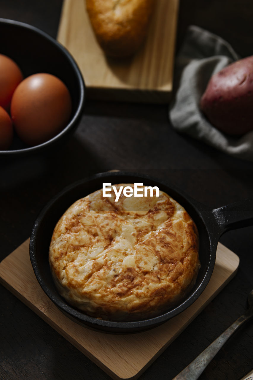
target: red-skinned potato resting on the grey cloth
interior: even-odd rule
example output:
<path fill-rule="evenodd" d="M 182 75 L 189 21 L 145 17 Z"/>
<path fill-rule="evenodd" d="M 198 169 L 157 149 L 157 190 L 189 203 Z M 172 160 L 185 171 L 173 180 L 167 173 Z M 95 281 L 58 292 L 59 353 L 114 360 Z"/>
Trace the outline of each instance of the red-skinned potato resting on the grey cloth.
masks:
<path fill-rule="evenodd" d="M 214 74 L 200 108 L 214 127 L 229 135 L 253 130 L 253 55 Z"/>

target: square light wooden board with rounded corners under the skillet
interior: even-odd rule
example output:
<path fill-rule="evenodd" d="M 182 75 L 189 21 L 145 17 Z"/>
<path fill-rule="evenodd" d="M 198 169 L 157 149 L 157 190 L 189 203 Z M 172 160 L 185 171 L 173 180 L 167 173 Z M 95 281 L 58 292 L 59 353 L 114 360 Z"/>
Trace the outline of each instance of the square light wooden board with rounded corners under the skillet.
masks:
<path fill-rule="evenodd" d="M 30 263 L 28 240 L 0 263 L 0 281 L 112 378 L 133 380 L 231 280 L 238 265 L 238 256 L 219 243 L 210 282 L 194 304 L 157 328 L 126 335 L 92 331 L 63 315 L 36 280 Z"/>

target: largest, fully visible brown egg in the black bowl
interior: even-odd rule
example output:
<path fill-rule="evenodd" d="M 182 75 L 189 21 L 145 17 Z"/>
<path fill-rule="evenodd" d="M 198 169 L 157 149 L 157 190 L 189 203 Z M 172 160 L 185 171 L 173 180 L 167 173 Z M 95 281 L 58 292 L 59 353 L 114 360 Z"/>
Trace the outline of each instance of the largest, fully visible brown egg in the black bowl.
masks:
<path fill-rule="evenodd" d="M 30 146 L 41 144 L 66 127 L 71 97 L 65 84 L 51 74 L 33 74 L 16 88 L 11 117 L 17 135 Z"/>

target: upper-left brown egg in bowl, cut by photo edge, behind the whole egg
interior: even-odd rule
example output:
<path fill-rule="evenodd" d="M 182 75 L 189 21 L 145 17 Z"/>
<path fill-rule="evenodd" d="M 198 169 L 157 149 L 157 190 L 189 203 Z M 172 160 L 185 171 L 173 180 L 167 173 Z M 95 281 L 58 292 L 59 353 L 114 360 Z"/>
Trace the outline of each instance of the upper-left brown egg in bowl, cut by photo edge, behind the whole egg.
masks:
<path fill-rule="evenodd" d="M 13 92 L 22 79 L 23 75 L 17 64 L 6 55 L 0 54 L 0 106 L 7 111 Z"/>

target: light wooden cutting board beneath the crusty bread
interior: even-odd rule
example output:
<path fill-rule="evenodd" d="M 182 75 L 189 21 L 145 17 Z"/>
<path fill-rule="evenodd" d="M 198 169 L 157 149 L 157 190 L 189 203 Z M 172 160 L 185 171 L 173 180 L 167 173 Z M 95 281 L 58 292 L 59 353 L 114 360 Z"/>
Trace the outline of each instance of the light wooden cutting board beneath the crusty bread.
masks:
<path fill-rule="evenodd" d="M 156 0 L 149 33 L 129 59 L 108 59 L 98 45 L 85 0 L 64 0 L 57 39 L 79 65 L 87 97 L 167 103 L 172 92 L 179 0 Z"/>

